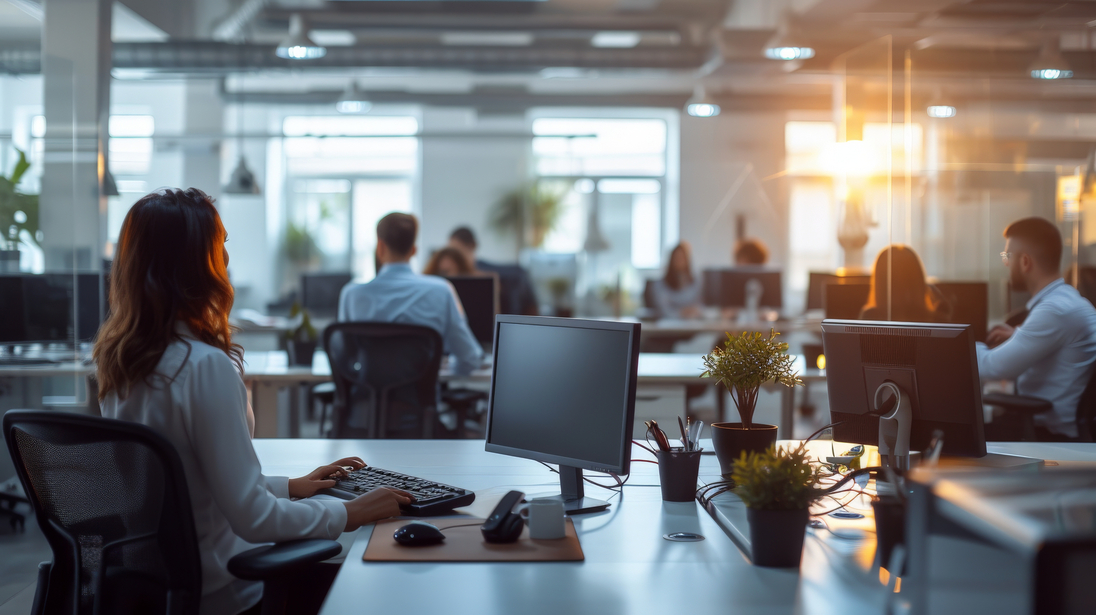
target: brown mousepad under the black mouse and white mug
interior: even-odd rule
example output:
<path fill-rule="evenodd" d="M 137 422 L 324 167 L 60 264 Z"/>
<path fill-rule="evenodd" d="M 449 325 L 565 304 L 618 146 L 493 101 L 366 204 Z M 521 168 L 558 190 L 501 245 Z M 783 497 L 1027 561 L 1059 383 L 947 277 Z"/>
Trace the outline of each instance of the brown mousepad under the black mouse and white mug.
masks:
<path fill-rule="evenodd" d="M 516 543 L 491 544 L 480 534 L 482 520 L 448 517 L 430 521 L 445 534 L 437 545 L 404 547 L 396 543 L 392 534 L 411 522 L 409 519 L 390 519 L 378 522 L 365 547 L 364 561 L 582 561 L 582 545 L 574 532 L 574 524 L 564 519 L 567 535 L 557 540 L 534 540 L 529 528 L 522 531 Z M 476 525 L 467 525 L 476 523 Z M 456 526 L 461 527 L 456 527 Z"/>

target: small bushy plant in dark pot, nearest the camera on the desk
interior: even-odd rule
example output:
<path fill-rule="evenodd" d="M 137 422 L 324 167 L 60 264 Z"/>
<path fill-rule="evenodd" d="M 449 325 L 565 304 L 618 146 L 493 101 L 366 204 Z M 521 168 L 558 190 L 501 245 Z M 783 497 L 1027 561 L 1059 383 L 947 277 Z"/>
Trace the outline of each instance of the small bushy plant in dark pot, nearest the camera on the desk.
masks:
<path fill-rule="evenodd" d="M 746 505 L 754 565 L 798 567 L 810 505 L 824 493 L 807 443 L 791 449 L 773 445 L 760 453 L 743 451 L 731 478 Z"/>

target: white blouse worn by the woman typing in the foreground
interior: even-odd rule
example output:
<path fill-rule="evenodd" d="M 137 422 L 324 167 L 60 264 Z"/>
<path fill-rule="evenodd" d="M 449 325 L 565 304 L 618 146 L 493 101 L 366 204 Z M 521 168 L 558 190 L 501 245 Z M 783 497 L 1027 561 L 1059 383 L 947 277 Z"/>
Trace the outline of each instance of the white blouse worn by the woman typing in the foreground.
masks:
<path fill-rule="evenodd" d="M 152 428 L 179 452 L 202 556 L 203 615 L 232 615 L 262 597 L 261 583 L 228 572 L 232 556 L 263 543 L 336 538 L 346 527 L 341 501 L 293 501 L 288 478 L 263 476 L 243 380 L 219 349 L 176 341 L 147 383 L 125 399 L 110 394 L 101 407 L 103 417 Z"/>

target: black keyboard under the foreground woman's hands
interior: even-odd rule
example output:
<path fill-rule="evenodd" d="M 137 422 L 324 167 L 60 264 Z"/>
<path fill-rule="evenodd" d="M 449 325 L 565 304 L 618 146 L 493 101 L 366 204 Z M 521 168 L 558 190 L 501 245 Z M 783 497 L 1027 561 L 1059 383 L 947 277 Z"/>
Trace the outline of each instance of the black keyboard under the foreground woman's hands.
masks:
<path fill-rule="evenodd" d="M 350 472 L 349 477 L 340 478 L 334 487 L 323 489 L 320 493 L 353 500 L 377 487 L 391 487 L 414 496 L 413 502 L 400 506 L 406 514 L 414 516 L 445 514 L 476 500 L 476 493 L 467 489 L 369 466 Z"/>

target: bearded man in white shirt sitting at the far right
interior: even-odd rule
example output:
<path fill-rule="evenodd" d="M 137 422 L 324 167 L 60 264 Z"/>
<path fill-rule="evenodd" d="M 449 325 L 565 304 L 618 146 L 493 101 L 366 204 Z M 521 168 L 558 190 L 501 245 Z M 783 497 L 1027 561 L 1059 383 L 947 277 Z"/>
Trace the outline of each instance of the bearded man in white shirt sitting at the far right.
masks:
<path fill-rule="evenodd" d="M 1014 289 L 1031 294 L 1028 316 L 1013 328 L 997 324 L 979 343 L 983 379 L 1016 378 L 1017 392 L 1039 397 L 1053 411 L 1035 415 L 1040 440 L 1077 437 L 1077 402 L 1096 362 L 1096 309 L 1059 274 L 1062 236 L 1043 218 L 1017 220 L 1005 229 Z"/>

